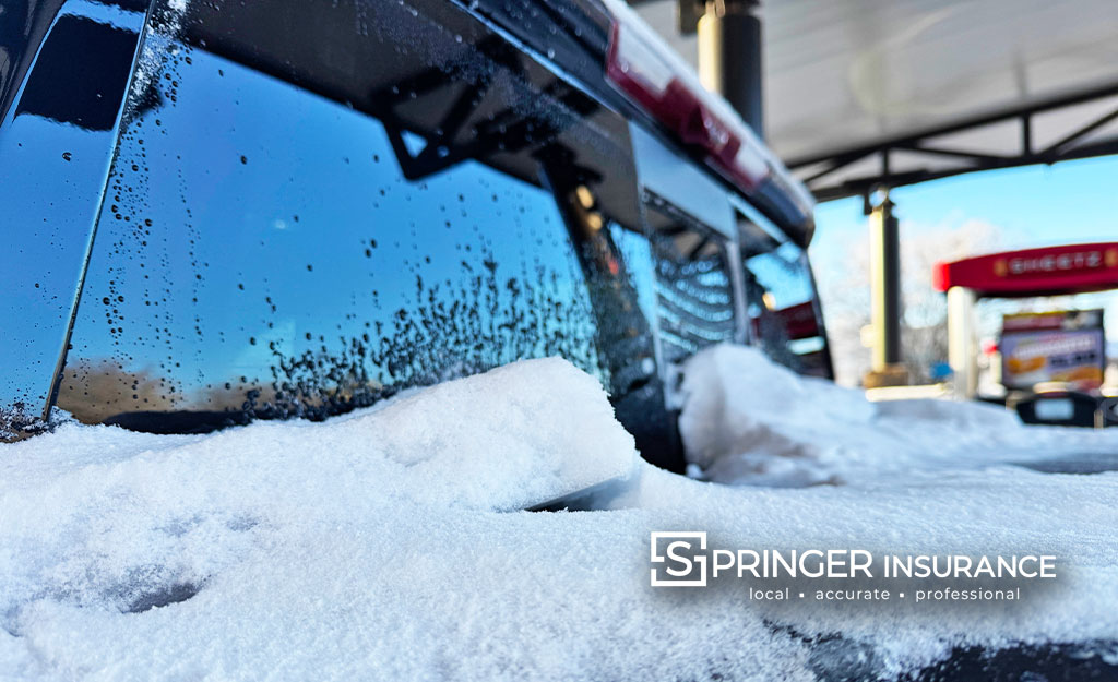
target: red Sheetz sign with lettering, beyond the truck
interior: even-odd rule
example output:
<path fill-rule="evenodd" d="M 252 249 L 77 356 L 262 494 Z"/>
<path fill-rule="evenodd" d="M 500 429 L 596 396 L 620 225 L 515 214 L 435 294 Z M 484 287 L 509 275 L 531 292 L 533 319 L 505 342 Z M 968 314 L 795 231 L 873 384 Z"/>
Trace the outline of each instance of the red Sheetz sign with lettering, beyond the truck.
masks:
<path fill-rule="evenodd" d="M 938 263 L 938 291 L 953 286 L 983 296 L 1051 296 L 1118 288 L 1118 243 L 1029 248 Z"/>

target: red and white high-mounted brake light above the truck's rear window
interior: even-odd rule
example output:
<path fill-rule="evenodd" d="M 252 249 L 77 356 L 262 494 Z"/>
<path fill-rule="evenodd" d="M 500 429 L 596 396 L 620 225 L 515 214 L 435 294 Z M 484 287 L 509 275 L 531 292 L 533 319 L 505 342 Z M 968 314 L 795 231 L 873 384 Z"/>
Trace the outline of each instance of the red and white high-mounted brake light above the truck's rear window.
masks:
<path fill-rule="evenodd" d="M 701 149 L 708 162 L 742 189 L 771 172 L 770 154 L 724 100 L 623 3 L 607 1 L 614 25 L 606 78 L 680 142 Z"/>

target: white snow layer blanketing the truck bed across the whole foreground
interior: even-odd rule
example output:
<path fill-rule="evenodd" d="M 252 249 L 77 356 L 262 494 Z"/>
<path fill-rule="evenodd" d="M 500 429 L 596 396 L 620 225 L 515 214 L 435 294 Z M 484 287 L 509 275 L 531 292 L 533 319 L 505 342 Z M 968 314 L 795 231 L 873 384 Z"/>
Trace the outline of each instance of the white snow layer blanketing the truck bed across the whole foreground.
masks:
<path fill-rule="evenodd" d="M 956 644 L 1118 640 L 1118 475 L 968 449 L 1030 435 L 1043 449 L 1062 430 L 864 405 L 745 349 L 697 358 L 692 391 L 704 373 L 711 401 L 693 392 L 686 430 L 708 475 L 749 449 L 849 484 L 728 486 L 635 462 L 601 388 L 561 360 L 325 424 L 66 426 L 2 446 L 0 679 L 812 680 L 817 635 L 883 675 Z M 622 479 L 596 511 L 517 511 Z M 969 607 L 653 589 L 648 533 L 679 529 L 728 547 L 1027 550 L 1062 570 L 1017 604 Z"/>

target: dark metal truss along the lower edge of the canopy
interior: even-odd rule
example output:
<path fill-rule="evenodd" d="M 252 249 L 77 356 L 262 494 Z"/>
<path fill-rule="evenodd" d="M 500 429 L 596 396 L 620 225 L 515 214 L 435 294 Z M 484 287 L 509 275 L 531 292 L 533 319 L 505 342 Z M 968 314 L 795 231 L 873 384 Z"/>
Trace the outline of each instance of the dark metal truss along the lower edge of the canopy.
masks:
<path fill-rule="evenodd" d="M 1074 159 L 1088 159 L 1092 157 L 1105 157 L 1118 153 L 1118 139 L 1109 139 L 1102 142 L 1089 144 L 1076 144 L 1083 138 L 1118 120 L 1118 107 L 1109 111 L 1102 116 L 1098 116 L 1084 125 L 1069 130 L 1055 142 L 1051 142 L 1041 149 L 1035 149 L 1032 140 L 1032 122 L 1038 114 L 1054 112 L 1063 108 L 1071 108 L 1079 105 L 1118 96 L 1118 82 L 1090 91 L 1078 92 L 1070 95 L 1061 95 L 1046 101 L 1035 103 L 1030 106 L 1008 108 L 1001 112 L 982 114 L 964 119 L 947 125 L 930 127 L 919 133 L 898 136 L 891 140 L 853 148 L 841 152 L 824 153 L 818 155 L 800 157 L 787 160 L 787 165 L 797 173 L 808 189 L 819 201 L 841 199 L 844 197 L 862 196 L 869 202 L 869 196 L 878 188 L 894 188 L 906 184 L 938 180 L 975 171 L 995 170 L 1004 168 L 1015 168 L 1021 165 L 1032 165 L 1036 163 L 1052 164 L 1059 161 L 1071 161 Z M 1020 148 L 1015 154 L 992 154 L 966 149 L 955 149 L 944 146 L 934 142 L 936 138 L 960 133 L 969 130 L 982 129 L 1005 122 L 1016 122 L 1020 131 Z M 966 165 L 951 169 L 921 169 L 903 172 L 891 172 L 890 154 L 893 152 L 912 152 L 925 154 L 931 158 L 950 157 L 966 162 Z M 828 182 L 833 176 L 849 168 L 851 164 L 865 159 L 878 157 L 881 163 L 881 172 L 860 176 L 856 178 L 843 179 L 837 182 Z M 809 174 L 803 176 L 805 169 Z M 869 208 L 866 209 L 869 212 Z"/>

